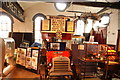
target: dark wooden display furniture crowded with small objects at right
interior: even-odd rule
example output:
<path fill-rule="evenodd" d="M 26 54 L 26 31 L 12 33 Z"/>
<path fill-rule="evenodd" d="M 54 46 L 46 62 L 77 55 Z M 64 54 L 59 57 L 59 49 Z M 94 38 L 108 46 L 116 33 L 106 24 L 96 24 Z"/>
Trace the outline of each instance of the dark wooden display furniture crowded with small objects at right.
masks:
<path fill-rule="evenodd" d="M 72 56 L 77 68 L 76 73 L 82 78 L 104 77 L 107 79 L 110 69 L 114 66 L 118 68 L 119 64 L 115 61 L 118 57 L 116 51 L 105 44 L 72 44 Z M 98 75 L 99 73 L 101 74 Z"/>

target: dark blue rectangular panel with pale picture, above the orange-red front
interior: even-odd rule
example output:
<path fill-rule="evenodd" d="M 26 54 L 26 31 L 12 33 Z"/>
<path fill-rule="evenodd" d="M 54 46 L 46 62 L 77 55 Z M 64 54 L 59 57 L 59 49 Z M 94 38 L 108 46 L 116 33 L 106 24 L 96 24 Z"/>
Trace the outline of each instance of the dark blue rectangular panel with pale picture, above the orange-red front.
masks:
<path fill-rule="evenodd" d="M 65 51 L 66 42 L 47 42 L 48 51 Z"/>

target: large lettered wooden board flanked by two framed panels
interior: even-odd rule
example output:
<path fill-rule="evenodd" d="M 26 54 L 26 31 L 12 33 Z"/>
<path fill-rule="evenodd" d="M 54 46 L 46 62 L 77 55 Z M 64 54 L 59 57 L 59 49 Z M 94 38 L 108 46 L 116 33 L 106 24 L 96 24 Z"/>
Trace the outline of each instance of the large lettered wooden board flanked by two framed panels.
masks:
<path fill-rule="evenodd" d="M 48 19 L 42 20 L 42 25 L 41 25 L 42 37 L 43 38 L 45 37 L 45 39 L 51 39 L 52 37 L 56 36 L 57 39 L 71 40 L 71 36 L 74 34 L 74 22 L 70 21 L 69 25 L 67 25 L 67 20 L 68 17 L 65 16 L 49 15 Z M 46 37 L 44 35 L 48 35 L 48 36 Z"/>

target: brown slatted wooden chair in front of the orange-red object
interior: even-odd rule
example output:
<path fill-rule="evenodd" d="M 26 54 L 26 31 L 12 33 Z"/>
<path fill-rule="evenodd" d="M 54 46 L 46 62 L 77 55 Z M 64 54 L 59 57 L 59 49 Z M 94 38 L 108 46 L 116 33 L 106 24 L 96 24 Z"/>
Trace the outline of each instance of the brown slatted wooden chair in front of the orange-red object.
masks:
<path fill-rule="evenodd" d="M 49 77 L 68 76 L 72 77 L 73 73 L 70 68 L 70 59 L 68 57 L 55 57 L 52 60 L 52 68 L 48 73 Z"/>

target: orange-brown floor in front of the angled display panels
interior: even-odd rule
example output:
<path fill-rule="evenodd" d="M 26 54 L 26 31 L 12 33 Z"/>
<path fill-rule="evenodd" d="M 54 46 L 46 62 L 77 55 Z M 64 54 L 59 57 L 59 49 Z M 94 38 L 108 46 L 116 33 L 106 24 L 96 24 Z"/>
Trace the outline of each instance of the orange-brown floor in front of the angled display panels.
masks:
<path fill-rule="evenodd" d="M 40 75 L 31 71 L 15 67 L 3 80 L 44 80 L 40 79 Z M 59 79 L 56 79 L 59 80 Z M 68 80 L 68 79 L 62 79 Z M 100 80 L 98 78 L 88 78 L 81 80 Z"/>

